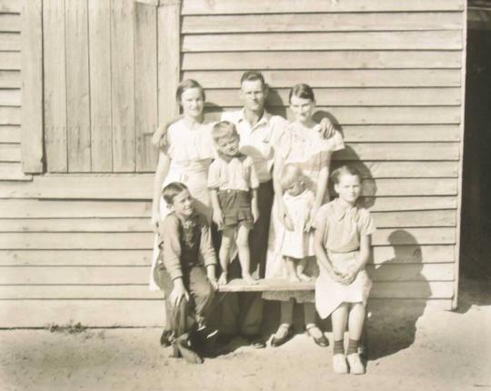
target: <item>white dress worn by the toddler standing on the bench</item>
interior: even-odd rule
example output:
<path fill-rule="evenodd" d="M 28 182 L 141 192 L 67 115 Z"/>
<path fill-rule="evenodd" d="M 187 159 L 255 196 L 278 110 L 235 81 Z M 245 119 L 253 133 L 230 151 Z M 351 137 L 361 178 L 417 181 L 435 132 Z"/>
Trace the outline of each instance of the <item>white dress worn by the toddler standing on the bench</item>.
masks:
<path fill-rule="evenodd" d="M 294 226 L 293 231 L 285 229 L 281 246 L 282 256 L 303 259 L 306 256 L 314 256 L 313 232 L 305 232 L 305 226 L 310 219 L 310 211 L 314 206 L 316 196 L 306 189 L 299 195 L 283 195 L 283 202 L 288 216 Z"/>

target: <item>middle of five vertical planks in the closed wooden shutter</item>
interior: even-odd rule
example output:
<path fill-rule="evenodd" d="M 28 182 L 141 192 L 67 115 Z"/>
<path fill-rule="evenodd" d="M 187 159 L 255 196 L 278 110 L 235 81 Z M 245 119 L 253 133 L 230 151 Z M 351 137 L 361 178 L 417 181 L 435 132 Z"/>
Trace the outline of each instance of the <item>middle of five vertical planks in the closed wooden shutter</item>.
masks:
<path fill-rule="evenodd" d="M 111 0 L 88 7 L 92 171 L 113 169 L 111 117 Z"/>

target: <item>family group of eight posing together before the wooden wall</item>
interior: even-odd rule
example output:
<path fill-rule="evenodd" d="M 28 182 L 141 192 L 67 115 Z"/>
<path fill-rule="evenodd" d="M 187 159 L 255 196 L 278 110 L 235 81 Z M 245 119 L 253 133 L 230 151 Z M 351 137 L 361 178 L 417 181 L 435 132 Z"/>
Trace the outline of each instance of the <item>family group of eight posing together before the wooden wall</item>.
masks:
<path fill-rule="evenodd" d="M 166 298 L 161 343 L 193 363 L 202 362 L 202 352 L 218 339 L 241 335 L 251 346 L 264 347 L 266 299 L 280 302 L 281 319 L 270 342 L 280 346 L 293 335 L 299 303 L 306 332 L 318 346 L 329 344 L 316 314 L 331 316 L 335 372 L 363 374 L 358 345 L 375 226 L 357 204 L 362 178 L 349 165 L 329 175 L 333 152 L 345 145 L 329 119 L 314 120 L 316 99 L 309 85 L 290 90 L 293 122 L 265 110 L 267 94 L 264 76 L 246 72 L 239 91 L 244 107 L 207 121 L 204 88 L 185 80 L 176 91 L 182 115 L 155 132 L 157 235 L 150 286 Z M 332 201 L 329 178 L 338 195 Z M 235 256 L 238 263 L 232 262 Z M 227 294 L 217 332 L 207 322 L 215 291 L 235 278 L 247 285 L 258 278 L 312 280 L 315 291 Z"/>

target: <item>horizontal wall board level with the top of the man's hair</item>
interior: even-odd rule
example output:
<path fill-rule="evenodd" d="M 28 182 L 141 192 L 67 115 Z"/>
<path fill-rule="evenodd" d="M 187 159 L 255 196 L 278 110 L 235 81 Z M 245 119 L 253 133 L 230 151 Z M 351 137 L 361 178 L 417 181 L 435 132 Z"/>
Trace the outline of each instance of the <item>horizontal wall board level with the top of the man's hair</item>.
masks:
<path fill-rule="evenodd" d="M 238 88 L 242 71 L 185 71 L 183 79 L 198 80 L 205 88 Z M 290 88 L 297 83 L 320 87 L 452 87 L 460 86 L 458 69 L 265 70 L 266 83 Z"/>

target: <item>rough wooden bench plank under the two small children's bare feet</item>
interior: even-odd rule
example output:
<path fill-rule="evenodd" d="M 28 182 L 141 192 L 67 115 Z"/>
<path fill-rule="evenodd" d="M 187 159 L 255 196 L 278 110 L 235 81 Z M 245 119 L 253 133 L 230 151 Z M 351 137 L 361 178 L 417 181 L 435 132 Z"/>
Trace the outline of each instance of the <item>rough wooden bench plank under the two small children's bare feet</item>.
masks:
<path fill-rule="evenodd" d="M 218 292 L 312 291 L 314 286 L 314 281 L 292 283 L 286 278 L 260 279 L 256 285 L 247 285 L 242 278 L 235 278 L 218 286 Z"/>

